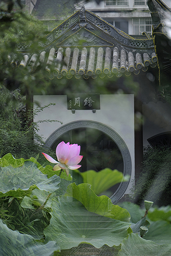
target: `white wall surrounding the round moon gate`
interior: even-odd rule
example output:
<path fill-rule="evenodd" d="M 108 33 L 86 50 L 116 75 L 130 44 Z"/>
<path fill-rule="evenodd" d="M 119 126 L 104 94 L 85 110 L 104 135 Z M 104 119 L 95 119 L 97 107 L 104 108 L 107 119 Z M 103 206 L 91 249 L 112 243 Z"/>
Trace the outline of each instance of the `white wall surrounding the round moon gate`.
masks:
<path fill-rule="evenodd" d="M 45 108 L 42 113 L 35 117 L 35 121 L 43 119 L 55 119 L 63 122 L 63 125 L 80 120 L 97 121 L 115 130 L 125 141 L 132 160 L 132 176 L 134 179 L 134 95 L 100 95 L 100 110 L 93 113 L 92 110 L 76 110 L 72 114 L 67 109 L 67 95 L 36 95 L 34 101 L 43 105 L 50 102 L 55 106 Z M 44 140 L 56 129 L 62 127 L 59 123 L 41 123 L 39 134 Z M 126 193 L 129 193 L 129 185 Z"/>

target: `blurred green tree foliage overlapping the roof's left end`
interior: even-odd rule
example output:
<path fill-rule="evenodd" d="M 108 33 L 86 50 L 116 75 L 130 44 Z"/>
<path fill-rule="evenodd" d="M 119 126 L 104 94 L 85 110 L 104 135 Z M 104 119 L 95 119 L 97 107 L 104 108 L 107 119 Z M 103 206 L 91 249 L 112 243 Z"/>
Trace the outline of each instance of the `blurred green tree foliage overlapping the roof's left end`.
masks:
<path fill-rule="evenodd" d="M 50 85 L 50 80 L 46 79 L 48 72 L 47 76 L 44 74 L 43 81 L 40 79 L 44 65 L 40 63 L 32 76 L 29 74 L 31 65 L 29 70 L 22 70 L 17 65 L 23 59 L 22 45 L 26 45 L 28 52 L 32 54 L 43 49 L 41 45 L 47 43 L 47 31 L 42 22 L 20 8 L 15 7 L 10 12 L 6 9 L 4 5 L 0 13 L 0 82 L 10 90 L 20 87 L 23 94 L 31 95 L 33 89 L 42 93 Z"/>

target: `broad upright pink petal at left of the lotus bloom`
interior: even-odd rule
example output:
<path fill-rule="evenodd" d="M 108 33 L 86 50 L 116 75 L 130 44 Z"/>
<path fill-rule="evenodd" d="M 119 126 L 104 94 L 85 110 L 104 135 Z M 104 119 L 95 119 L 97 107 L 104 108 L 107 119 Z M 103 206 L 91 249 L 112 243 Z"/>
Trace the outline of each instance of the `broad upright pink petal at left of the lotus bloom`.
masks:
<path fill-rule="evenodd" d="M 64 141 L 59 143 L 56 148 L 56 156 L 58 161 L 61 163 L 65 163 L 69 154 L 69 143 L 65 144 Z"/>

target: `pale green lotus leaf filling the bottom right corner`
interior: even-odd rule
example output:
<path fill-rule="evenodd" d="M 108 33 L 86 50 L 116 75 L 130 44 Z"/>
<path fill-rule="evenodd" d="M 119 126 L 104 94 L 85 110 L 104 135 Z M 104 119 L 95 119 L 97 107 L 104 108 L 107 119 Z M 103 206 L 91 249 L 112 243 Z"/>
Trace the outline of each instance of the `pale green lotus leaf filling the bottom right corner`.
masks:
<path fill-rule="evenodd" d="M 121 243 L 118 256 L 171 256 L 171 244 L 158 245 L 131 233 Z"/>

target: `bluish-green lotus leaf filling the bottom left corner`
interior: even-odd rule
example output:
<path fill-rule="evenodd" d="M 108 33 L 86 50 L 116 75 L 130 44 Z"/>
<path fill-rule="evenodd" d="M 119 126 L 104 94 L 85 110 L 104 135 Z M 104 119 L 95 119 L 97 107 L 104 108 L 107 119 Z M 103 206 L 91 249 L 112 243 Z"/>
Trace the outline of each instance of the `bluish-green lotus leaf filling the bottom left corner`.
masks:
<path fill-rule="evenodd" d="M 40 244 L 30 235 L 9 229 L 0 219 L 0 256 L 51 256 L 58 249 L 54 241 Z"/>

